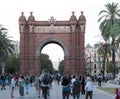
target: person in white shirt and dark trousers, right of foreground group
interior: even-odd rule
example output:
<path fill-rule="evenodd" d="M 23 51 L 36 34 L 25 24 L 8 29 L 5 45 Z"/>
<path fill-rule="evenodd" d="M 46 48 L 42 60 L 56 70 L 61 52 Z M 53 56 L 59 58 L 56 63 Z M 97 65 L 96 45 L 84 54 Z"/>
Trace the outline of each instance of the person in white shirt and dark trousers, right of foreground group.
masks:
<path fill-rule="evenodd" d="M 90 77 L 87 77 L 87 83 L 85 85 L 85 91 L 86 91 L 86 96 L 85 99 L 88 99 L 88 97 L 90 97 L 90 99 L 92 99 L 93 96 L 93 83 Z"/>

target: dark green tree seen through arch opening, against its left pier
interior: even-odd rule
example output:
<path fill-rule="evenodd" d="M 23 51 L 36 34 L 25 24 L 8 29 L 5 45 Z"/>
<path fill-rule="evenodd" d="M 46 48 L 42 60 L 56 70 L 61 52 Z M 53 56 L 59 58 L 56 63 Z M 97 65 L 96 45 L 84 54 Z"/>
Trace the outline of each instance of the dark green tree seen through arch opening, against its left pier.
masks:
<path fill-rule="evenodd" d="M 49 59 L 47 54 L 41 54 L 41 70 L 47 69 L 50 73 L 53 72 L 53 64 L 52 61 Z"/>

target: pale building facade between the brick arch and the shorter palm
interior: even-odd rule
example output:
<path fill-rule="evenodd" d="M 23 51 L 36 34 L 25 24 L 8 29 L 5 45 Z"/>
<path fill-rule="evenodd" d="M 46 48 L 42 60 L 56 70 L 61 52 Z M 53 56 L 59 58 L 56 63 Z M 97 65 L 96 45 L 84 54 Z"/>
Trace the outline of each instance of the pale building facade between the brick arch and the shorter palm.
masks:
<path fill-rule="evenodd" d="M 90 44 L 85 47 L 86 71 L 92 76 L 97 76 L 102 72 L 102 58 L 98 56 L 97 50 Z"/>

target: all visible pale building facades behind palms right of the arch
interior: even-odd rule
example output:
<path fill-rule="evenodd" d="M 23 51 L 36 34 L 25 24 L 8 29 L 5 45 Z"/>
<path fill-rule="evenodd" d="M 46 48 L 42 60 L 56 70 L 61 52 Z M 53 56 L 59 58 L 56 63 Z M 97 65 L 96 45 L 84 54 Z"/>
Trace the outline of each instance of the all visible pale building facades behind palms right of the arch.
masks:
<path fill-rule="evenodd" d="M 115 73 L 118 74 L 120 72 L 120 47 L 117 49 L 115 54 L 115 64 L 116 69 Z M 105 75 L 107 75 L 106 72 L 106 63 L 112 62 L 112 55 L 108 55 L 105 62 Z M 85 63 L 86 63 L 86 70 L 87 73 L 95 76 L 98 74 L 102 74 L 103 72 L 103 57 L 99 56 L 97 53 L 97 49 L 93 48 L 90 44 L 87 44 L 85 47 Z"/>

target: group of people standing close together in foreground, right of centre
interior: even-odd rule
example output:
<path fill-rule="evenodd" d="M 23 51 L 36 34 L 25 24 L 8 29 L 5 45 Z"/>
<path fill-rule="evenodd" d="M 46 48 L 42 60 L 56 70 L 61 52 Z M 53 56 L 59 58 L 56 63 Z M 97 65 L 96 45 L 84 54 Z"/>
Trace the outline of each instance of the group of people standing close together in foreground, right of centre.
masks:
<path fill-rule="evenodd" d="M 85 99 L 92 99 L 93 84 L 90 77 L 85 76 L 78 77 L 77 75 L 64 76 L 61 82 L 63 99 L 69 99 L 69 95 L 73 96 L 73 99 L 79 99 L 80 92 L 85 95 Z M 86 93 L 86 94 L 85 94 Z"/>

